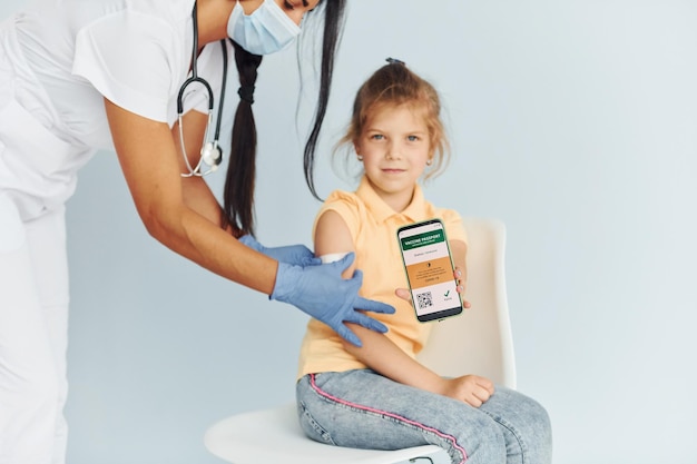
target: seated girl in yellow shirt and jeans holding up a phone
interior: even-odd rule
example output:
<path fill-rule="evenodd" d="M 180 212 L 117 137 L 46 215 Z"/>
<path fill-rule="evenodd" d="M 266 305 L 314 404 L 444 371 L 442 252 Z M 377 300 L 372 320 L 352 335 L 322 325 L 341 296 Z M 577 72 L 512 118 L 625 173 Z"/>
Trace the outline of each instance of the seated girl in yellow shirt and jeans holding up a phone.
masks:
<path fill-rule="evenodd" d="M 404 289 L 393 290 L 404 278 L 396 230 L 443 220 L 460 293 L 467 241 L 458 214 L 426 201 L 418 184 L 438 172 L 446 152 L 439 97 L 404 63 L 389 61 L 359 90 L 342 139 L 355 149 L 364 176 L 355 192 L 327 198 L 314 240 L 318 256 L 355 253 L 354 265 L 365 276 L 362 295 L 390 303 L 396 314 L 381 317 L 390 328 L 384 335 L 352 325 L 362 347 L 317 320 L 308 323 L 296 387 L 302 427 L 311 438 L 337 446 L 435 444 L 453 463 L 548 464 L 551 430 L 538 403 L 478 375 L 442 378 L 415 361 L 430 325 L 400 300 L 409 299 Z"/>

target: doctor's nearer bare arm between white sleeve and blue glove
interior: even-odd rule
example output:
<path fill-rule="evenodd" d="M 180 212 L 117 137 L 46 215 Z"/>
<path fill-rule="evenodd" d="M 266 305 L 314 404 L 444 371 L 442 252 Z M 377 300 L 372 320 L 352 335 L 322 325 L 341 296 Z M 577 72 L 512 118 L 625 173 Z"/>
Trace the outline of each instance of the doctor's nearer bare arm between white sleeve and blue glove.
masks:
<path fill-rule="evenodd" d="M 220 228 L 219 219 L 212 219 L 218 207 L 210 192 L 185 198 L 169 127 L 108 100 L 105 108 L 121 170 L 148 233 L 206 269 L 271 295 L 278 263 L 240 244 Z"/>

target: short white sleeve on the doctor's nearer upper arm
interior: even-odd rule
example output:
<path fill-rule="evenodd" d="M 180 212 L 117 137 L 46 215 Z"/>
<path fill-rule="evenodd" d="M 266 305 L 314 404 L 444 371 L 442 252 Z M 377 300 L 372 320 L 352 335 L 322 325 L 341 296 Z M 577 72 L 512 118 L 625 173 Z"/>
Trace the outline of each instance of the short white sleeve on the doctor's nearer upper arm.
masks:
<path fill-rule="evenodd" d="M 179 85 L 174 80 L 186 67 L 177 58 L 179 41 L 166 21 L 134 11 L 114 13 L 78 32 L 72 73 L 119 107 L 166 122 Z"/>

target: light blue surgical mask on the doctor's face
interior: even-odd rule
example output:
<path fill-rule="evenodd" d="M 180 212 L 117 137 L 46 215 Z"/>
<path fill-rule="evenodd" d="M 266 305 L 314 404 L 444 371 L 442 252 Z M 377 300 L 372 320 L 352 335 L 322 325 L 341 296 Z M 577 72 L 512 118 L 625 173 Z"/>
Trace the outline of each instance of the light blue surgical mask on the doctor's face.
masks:
<path fill-rule="evenodd" d="M 249 16 L 237 2 L 227 21 L 228 37 L 254 55 L 282 50 L 300 33 L 301 28 L 274 0 L 264 0 Z"/>

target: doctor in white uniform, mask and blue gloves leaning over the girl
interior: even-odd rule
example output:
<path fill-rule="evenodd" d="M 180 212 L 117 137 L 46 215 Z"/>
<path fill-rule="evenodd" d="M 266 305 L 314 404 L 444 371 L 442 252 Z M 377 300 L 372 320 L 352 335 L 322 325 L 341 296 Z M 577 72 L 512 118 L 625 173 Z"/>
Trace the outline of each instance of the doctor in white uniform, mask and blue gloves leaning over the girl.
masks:
<path fill-rule="evenodd" d="M 385 330 L 356 309 L 393 308 L 357 297 L 360 273 L 341 278 L 353 256 L 318 265 L 304 246 L 267 248 L 252 235 L 256 68 L 263 55 L 293 42 L 305 14 L 324 21 L 321 90 L 305 148 L 314 194 L 344 3 L 56 0 L 1 24 L 0 464 L 65 462 L 65 203 L 97 149 L 116 149 L 148 233 L 175 253 L 298 307 L 354 344 L 344 322 Z M 240 101 L 226 155 L 213 107 L 232 55 Z M 203 176 L 226 156 L 220 206 Z"/>

